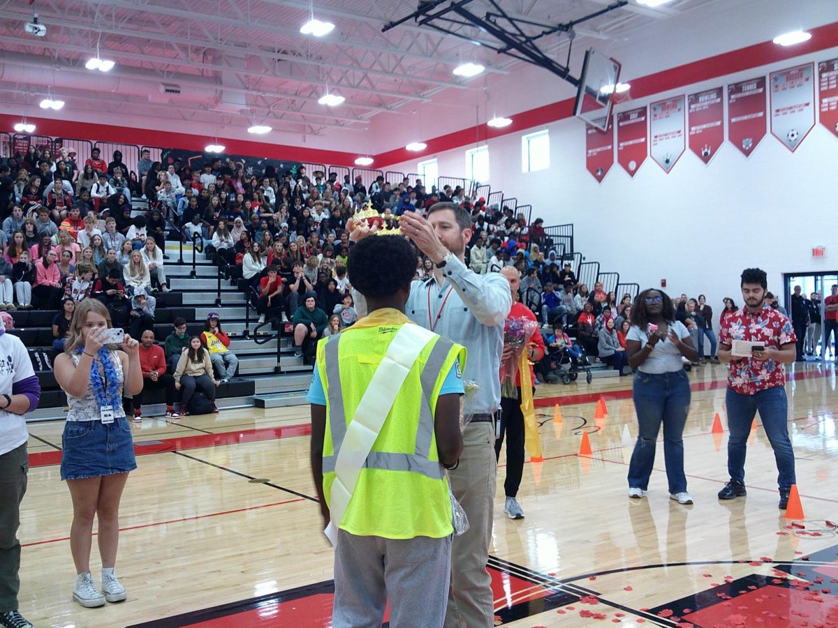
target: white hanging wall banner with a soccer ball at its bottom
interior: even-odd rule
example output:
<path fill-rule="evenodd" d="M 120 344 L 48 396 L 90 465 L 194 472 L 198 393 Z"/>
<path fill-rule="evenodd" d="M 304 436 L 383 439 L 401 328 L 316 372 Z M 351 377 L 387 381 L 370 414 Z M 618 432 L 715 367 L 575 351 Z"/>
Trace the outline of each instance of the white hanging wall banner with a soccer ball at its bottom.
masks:
<path fill-rule="evenodd" d="M 815 127 L 815 64 L 780 69 L 771 85 L 771 135 L 794 152 Z"/>

